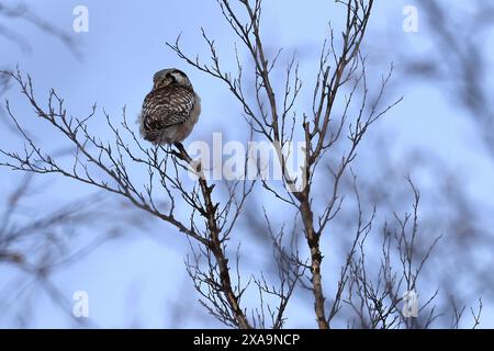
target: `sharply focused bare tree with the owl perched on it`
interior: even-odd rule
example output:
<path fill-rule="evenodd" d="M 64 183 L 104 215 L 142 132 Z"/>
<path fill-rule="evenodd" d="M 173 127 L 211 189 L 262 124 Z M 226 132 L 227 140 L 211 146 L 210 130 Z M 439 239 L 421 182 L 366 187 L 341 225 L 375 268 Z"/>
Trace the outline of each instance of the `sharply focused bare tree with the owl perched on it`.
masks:
<path fill-rule="evenodd" d="M 226 86 L 243 111 L 250 138 L 266 140 L 273 147 L 281 167 L 281 183 L 265 178 L 211 181 L 204 165 L 192 159 L 181 144 L 170 147 L 144 145 L 127 123 L 125 109 L 121 123 L 115 123 L 103 112 L 112 135 L 111 140 L 103 139 L 101 132 L 91 129 L 91 121 L 98 117 L 97 106 L 92 106 L 86 116 L 71 116 L 55 90 L 50 90 L 47 102 L 42 103 L 35 95 L 31 77 L 20 71 L 3 71 L 3 75 L 21 89 L 38 123 L 47 123 L 57 131 L 60 140 L 74 152 L 67 162 L 46 151 L 8 102 L 7 112 L 25 147 L 22 151 L 2 148 L 1 165 L 31 173 L 59 174 L 117 194 L 175 227 L 191 245 L 192 253 L 186 264 L 201 304 L 227 326 L 282 328 L 289 303 L 300 287 L 311 292 L 313 314 L 321 329 L 332 327 L 343 309 L 350 312 L 346 314 L 349 327 L 429 327 L 436 318 L 433 304 L 436 294 L 422 307 L 424 312 L 428 309 L 428 317 L 420 322 L 407 319 L 400 309 L 401 291 L 416 288 L 422 269 L 437 242 L 433 240 L 422 254 L 415 250 L 419 239 L 418 191 L 409 182 L 414 194 L 413 211 L 404 216 L 396 214 L 392 227 L 384 222 L 378 230 L 383 234 L 381 251 L 378 251 L 380 264 L 370 264 L 368 251 L 375 248 L 367 246 L 366 240 L 375 231 L 375 208 L 366 219 L 357 176 L 350 172 L 371 126 L 401 101 L 397 98 L 385 102 L 392 67 L 377 87 L 370 87 L 368 82 L 361 44 L 373 0 L 337 1 L 346 21 L 338 31 L 329 27 L 321 56 L 313 63 L 318 68 L 316 77 L 304 79 L 304 87 L 308 86 L 312 95 L 308 107 L 300 101 L 303 84 L 296 56 L 290 56 L 288 64 L 281 65 L 279 60 L 284 56 L 281 50 L 268 54 L 261 32 L 261 1 L 216 2 L 247 53 L 248 61 L 236 50 L 236 71 L 225 70 L 215 42 L 205 30 L 202 36 L 211 55 L 210 61 L 188 55 L 179 38 L 168 46 L 186 63 Z M 281 84 L 274 81 L 274 71 L 283 72 Z M 288 149 L 294 141 L 304 146 L 301 176 L 289 168 Z M 139 174 L 147 174 L 147 179 L 143 181 Z M 191 174 L 193 179 L 190 179 Z M 341 183 L 348 180 L 356 195 L 355 233 L 350 229 L 341 231 L 334 226 L 344 208 Z M 236 235 L 239 231 L 237 222 L 245 215 L 246 203 L 255 190 L 265 191 L 279 208 L 293 214 L 294 218 L 293 224 L 274 227 L 271 214 L 263 210 L 262 226 L 274 253 L 276 284 L 262 273 L 244 276 L 240 247 L 231 249 L 234 240 L 240 241 Z M 323 242 L 330 245 L 330 238 L 337 235 L 351 238 L 351 245 L 341 258 L 340 271 L 336 274 L 335 271 L 324 272 L 324 276 L 335 278 L 337 283 L 328 286 L 323 281 Z M 395 264 L 398 268 L 395 269 Z M 252 285 L 259 296 L 258 303 L 247 308 L 243 297 L 252 291 Z M 329 303 L 327 291 L 335 292 Z M 479 318 L 480 313 L 474 315 L 475 326 Z"/>

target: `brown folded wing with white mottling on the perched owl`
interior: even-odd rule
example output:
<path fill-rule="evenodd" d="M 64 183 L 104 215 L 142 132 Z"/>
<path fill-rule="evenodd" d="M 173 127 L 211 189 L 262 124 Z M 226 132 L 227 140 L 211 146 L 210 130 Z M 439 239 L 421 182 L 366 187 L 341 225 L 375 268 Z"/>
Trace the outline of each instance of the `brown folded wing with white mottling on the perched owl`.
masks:
<path fill-rule="evenodd" d="M 166 129 L 186 122 L 194 107 L 194 92 L 187 87 L 168 86 L 151 91 L 144 99 L 144 129 Z"/>

